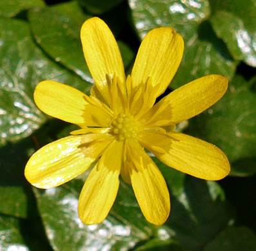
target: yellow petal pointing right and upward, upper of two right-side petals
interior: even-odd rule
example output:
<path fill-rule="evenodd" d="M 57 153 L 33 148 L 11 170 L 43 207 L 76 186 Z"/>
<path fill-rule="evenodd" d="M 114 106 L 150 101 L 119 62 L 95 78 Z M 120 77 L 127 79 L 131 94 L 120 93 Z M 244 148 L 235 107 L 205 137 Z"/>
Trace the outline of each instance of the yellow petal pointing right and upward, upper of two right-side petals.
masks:
<path fill-rule="evenodd" d="M 193 80 L 162 98 L 141 120 L 158 126 L 177 124 L 215 104 L 227 88 L 228 79 L 220 75 Z"/>

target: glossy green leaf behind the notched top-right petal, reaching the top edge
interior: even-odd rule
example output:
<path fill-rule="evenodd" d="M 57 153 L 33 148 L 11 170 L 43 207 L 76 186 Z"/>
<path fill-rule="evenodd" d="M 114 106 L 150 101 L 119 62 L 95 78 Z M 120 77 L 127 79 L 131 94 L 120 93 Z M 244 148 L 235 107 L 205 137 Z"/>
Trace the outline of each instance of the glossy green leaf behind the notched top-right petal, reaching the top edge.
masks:
<path fill-rule="evenodd" d="M 141 39 L 160 26 L 172 26 L 184 38 L 184 57 L 172 88 L 212 73 L 233 77 L 237 62 L 207 21 L 210 17 L 208 1 L 130 0 L 129 3 L 132 21 Z"/>

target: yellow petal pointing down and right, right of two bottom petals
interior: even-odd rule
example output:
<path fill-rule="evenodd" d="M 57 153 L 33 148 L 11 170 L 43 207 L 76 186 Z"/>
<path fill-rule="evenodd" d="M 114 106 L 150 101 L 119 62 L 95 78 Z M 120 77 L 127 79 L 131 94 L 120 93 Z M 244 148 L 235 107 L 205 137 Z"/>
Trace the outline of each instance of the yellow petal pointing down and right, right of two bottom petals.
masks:
<path fill-rule="evenodd" d="M 130 178 L 145 218 L 162 225 L 170 214 L 170 195 L 161 172 L 137 143 L 130 144 Z"/>

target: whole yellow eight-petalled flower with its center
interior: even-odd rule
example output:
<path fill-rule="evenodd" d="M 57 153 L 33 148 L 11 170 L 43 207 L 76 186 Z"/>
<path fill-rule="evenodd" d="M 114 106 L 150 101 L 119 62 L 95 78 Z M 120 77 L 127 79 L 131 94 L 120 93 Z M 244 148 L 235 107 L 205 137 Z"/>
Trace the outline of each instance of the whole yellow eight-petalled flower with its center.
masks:
<path fill-rule="evenodd" d="M 37 151 L 26 165 L 26 179 L 35 187 L 56 187 L 95 162 L 79 198 L 84 223 L 101 223 L 106 218 L 121 174 L 132 184 L 145 218 L 161 225 L 170 213 L 170 196 L 144 149 L 198 178 L 219 180 L 228 175 L 230 165 L 220 149 L 173 131 L 175 124 L 215 104 L 226 92 L 228 80 L 219 75 L 202 77 L 155 104 L 182 59 L 184 42 L 173 28 L 156 28 L 146 35 L 127 78 L 117 42 L 101 19 L 94 17 L 83 24 L 81 40 L 95 81 L 90 96 L 51 80 L 39 83 L 34 93 L 44 113 L 81 129 Z"/>

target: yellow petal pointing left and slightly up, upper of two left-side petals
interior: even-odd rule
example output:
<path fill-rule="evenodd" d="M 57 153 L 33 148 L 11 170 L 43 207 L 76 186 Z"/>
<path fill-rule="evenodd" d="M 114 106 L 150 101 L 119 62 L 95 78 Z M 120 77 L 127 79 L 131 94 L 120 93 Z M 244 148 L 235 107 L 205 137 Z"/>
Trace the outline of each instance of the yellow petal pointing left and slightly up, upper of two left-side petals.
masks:
<path fill-rule="evenodd" d="M 47 115 L 83 127 L 108 127 L 110 111 L 100 103 L 89 104 L 86 97 L 78 89 L 52 80 L 40 82 L 34 93 L 35 104 Z"/>

